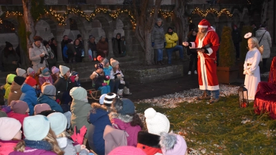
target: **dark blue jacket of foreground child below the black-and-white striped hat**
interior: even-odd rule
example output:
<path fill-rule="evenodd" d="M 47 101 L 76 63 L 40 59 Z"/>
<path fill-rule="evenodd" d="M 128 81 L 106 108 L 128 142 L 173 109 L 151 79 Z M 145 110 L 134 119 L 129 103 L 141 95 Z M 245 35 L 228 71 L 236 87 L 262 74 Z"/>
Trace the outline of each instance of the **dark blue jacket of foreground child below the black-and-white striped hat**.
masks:
<path fill-rule="evenodd" d="M 110 119 L 108 117 L 108 112 L 100 108 L 96 108 L 90 111 L 89 121 L 91 123 L 90 130 L 88 130 L 88 141 L 89 145 L 93 148 L 96 154 L 104 155 L 104 139 L 103 132 L 106 125 L 111 125 Z M 92 130 L 91 130 L 92 128 Z M 91 135 L 92 134 L 92 135 Z M 92 144 L 90 141 L 92 138 Z"/>

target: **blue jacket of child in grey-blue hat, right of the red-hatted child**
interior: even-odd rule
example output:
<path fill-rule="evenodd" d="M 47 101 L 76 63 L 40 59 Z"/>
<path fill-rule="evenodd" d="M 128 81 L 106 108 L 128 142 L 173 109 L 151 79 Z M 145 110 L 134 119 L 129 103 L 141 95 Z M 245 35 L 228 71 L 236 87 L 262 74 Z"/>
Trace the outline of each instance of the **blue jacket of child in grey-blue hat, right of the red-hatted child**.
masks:
<path fill-rule="evenodd" d="M 47 103 L 50 105 L 52 110 L 55 110 L 56 112 L 64 113 L 61 106 L 53 99 L 50 99 L 49 96 L 41 94 L 39 98 L 37 99 L 37 104 Z"/>

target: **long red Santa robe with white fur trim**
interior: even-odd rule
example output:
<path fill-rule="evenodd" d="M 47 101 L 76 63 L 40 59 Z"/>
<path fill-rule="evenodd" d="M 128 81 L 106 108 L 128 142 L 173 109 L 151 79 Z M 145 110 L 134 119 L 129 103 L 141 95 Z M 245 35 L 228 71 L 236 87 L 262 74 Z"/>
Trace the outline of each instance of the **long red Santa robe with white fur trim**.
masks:
<path fill-rule="evenodd" d="M 217 80 L 217 50 L 219 49 L 219 37 L 213 28 L 208 27 L 203 39 L 195 39 L 191 42 L 191 48 L 202 48 L 208 43 L 212 43 L 212 47 L 207 48 L 208 54 L 198 53 L 197 72 L 200 90 L 219 90 L 219 81 Z"/>

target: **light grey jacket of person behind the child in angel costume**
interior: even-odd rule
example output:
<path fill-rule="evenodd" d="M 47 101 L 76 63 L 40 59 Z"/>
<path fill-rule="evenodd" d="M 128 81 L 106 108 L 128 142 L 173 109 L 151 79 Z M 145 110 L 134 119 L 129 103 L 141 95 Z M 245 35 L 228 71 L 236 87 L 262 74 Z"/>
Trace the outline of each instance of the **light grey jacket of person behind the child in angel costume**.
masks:
<path fill-rule="evenodd" d="M 264 33 L 266 32 L 266 33 Z M 262 38 L 264 34 L 264 37 Z M 265 30 L 265 28 L 259 28 L 259 30 L 256 31 L 256 38 L 262 41 L 259 43 L 259 46 L 264 45 L 264 52 L 263 52 L 263 59 L 267 59 L 270 57 L 270 48 L 272 47 L 271 37 L 268 31 Z"/>

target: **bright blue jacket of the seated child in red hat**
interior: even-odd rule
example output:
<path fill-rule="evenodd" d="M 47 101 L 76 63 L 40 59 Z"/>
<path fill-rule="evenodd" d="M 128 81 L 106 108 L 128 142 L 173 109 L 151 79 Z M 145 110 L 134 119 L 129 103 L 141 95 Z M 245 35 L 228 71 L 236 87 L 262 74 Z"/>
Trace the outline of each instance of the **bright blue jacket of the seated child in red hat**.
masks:
<path fill-rule="evenodd" d="M 22 94 L 19 100 L 28 103 L 30 116 L 34 115 L 34 106 L 37 105 L 37 93 L 33 87 L 26 83 L 22 85 L 21 92 Z"/>

